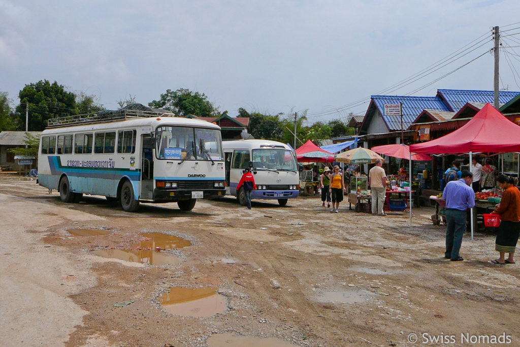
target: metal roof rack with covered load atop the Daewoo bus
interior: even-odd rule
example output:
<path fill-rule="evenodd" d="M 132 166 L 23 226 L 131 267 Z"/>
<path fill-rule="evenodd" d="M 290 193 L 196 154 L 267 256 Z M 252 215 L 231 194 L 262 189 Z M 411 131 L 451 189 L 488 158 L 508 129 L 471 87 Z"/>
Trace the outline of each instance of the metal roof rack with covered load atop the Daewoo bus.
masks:
<path fill-rule="evenodd" d="M 123 119 L 146 117 L 175 117 L 175 114 L 162 109 L 152 109 L 141 104 L 132 104 L 119 110 L 67 115 L 65 117 L 49 119 L 47 127 L 52 128 L 79 124 L 104 123 Z"/>

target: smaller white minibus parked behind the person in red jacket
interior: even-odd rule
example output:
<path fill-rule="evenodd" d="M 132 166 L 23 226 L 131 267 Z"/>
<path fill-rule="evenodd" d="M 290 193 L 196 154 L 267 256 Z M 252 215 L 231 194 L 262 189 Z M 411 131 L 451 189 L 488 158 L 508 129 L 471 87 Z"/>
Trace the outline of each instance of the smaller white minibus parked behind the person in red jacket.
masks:
<path fill-rule="evenodd" d="M 283 206 L 300 194 L 300 175 L 294 151 L 270 140 L 231 140 L 222 143 L 226 156 L 226 194 L 245 205 L 243 189 L 237 191 L 245 168 L 251 168 L 256 190 L 251 199 L 276 199 Z"/>

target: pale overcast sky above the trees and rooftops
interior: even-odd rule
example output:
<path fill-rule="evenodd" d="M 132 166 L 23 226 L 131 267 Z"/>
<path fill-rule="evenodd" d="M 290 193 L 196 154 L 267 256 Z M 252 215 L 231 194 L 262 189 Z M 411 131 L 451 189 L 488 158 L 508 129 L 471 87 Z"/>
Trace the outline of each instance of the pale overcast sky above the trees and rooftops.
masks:
<path fill-rule="evenodd" d="M 485 53 L 494 25 L 514 29 L 504 43 L 520 46 L 519 13 L 518 0 L 0 0 L 0 91 L 16 105 L 25 84 L 47 79 L 116 109 L 129 95 L 146 105 L 188 88 L 232 117 L 243 107 L 308 110 L 311 122 L 344 118 L 368 104 L 345 106 L 479 37 L 482 47 L 389 94 L 408 94 Z M 520 91 L 512 72 L 520 72 L 520 48 L 508 50 L 500 87 Z M 491 90 L 492 55 L 413 95 L 438 88 Z"/>

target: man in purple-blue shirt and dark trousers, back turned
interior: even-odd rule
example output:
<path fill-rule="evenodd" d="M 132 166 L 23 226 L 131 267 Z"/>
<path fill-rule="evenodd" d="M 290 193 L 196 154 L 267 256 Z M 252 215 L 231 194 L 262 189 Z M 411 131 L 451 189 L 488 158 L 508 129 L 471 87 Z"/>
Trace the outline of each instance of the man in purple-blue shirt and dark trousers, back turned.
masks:
<path fill-rule="evenodd" d="M 470 187 L 473 174 L 462 171 L 458 181 L 446 184 L 443 198 L 446 200 L 446 252 L 444 258 L 452 262 L 464 260 L 459 254 L 462 236 L 466 231 L 466 210 L 475 206 L 475 192 Z"/>

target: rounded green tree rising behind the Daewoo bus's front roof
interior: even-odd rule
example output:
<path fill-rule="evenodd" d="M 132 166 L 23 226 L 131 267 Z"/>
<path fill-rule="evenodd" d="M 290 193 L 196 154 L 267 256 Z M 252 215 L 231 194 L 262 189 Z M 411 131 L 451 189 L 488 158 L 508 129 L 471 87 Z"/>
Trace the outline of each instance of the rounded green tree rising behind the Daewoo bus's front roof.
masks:
<path fill-rule="evenodd" d="M 218 108 L 207 100 L 204 93 L 191 92 L 184 88 L 176 91 L 167 89 L 166 93 L 161 94 L 159 100 L 152 100 L 148 106 L 172 111 L 179 117 L 185 117 L 188 114 L 198 117 L 216 117 L 219 114 Z"/>

